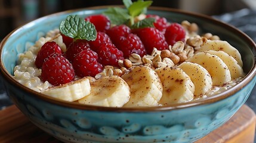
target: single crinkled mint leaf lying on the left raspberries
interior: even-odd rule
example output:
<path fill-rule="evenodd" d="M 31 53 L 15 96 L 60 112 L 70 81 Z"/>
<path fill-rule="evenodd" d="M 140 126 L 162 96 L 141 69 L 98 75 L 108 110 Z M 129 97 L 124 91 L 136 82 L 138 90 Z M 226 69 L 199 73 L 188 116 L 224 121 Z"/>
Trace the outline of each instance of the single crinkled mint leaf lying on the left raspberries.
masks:
<path fill-rule="evenodd" d="M 62 34 L 73 39 L 94 41 L 97 36 L 94 24 L 85 21 L 78 15 L 67 16 L 66 20 L 61 21 L 59 29 Z"/>

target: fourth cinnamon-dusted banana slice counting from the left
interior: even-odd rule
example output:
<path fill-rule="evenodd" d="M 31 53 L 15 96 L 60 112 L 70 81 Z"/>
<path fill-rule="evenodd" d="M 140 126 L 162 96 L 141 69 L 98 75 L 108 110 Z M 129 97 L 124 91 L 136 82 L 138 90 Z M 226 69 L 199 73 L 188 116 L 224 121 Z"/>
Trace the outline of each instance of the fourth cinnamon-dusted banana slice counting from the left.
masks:
<path fill-rule="evenodd" d="M 189 76 L 178 67 L 160 67 L 156 69 L 163 85 L 162 105 L 183 103 L 194 98 L 195 85 Z"/>

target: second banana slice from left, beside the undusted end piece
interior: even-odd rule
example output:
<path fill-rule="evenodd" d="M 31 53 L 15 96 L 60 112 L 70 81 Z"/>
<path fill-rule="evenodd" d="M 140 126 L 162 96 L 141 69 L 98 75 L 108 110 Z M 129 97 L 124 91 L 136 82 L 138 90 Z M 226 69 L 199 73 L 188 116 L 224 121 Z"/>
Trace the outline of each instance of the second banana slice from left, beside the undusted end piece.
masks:
<path fill-rule="evenodd" d="M 119 76 L 106 76 L 91 82 L 91 93 L 78 100 L 81 104 L 122 107 L 129 101 L 129 86 Z"/>

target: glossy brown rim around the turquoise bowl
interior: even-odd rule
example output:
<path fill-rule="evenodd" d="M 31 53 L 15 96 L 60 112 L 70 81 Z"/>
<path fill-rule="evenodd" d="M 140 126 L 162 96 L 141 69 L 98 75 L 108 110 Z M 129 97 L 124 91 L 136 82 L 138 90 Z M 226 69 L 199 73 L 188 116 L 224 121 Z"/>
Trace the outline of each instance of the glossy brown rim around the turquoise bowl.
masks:
<path fill-rule="evenodd" d="M 67 11 L 61 11 L 59 13 L 54 13 L 50 15 L 45 15 L 44 17 L 37 18 L 36 20 L 32 20 L 30 22 L 27 22 L 26 24 L 23 24 L 16 29 L 14 29 L 12 32 L 10 32 L 5 38 L 1 41 L 0 43 L 0 72 L 2 78 L 5 78 L 9 83 L 11 83 L 14 86 L 17 86 L 21 90 L 25 92 L 29 92 L 36 98 L 40 98 L 41 100 L 44 100 L 45 102 L 50 102 L 51 104 L 56 104 L 64 107 L 71 107 L 71 108 L 76 108 L 80 110 L 97 110 L 97 111 L 116 111 L 116 112 L 149 112 L 149 111 L 167 111 L 167 110 L 176 110 L 176 109 L 181 109 L 181 108 L 187 108 L 187 107 L 195 107 L 198 105 L 205 105 L 205 104 L 211 104 L 216 101 L 224 100 L 225 98 L 231 97 L 233 94 L 236 92 L 240 91 L 243 87 L 245 87 L 255 76 L 256 74 L 256 67 L 255 67 L 255 56 L 254 56 L 254 61 L 253 61 L 253 67 L 252 69 L 246 74 L 246 76 L 235 86 L 232 88 L 221 92 L 220 94 L 204 98 L 202 100 L 196 100 L 196 101 L 191 101 L 191 102 L 186 102 L 186 103 L 181 103 L 181 104 L 172 104 L 172 105 L 166 105 L 166 106 L 156 106 L 156 107 L 101 107 L 101 106 L 95 106 L 95 105 L 85 105 L 85 104 L 79 104 L 78 102 L 68 102 L 68 101 L 62 101 L 58 100 L 53 97 L 48 97 L 45 96 L 44 94 L 41 94 L 39 92 L 33 91 L 32 89 L 27 88 L 24 85 L 21 85 L 21 83 L 18 83 L 16 79 L 13 78 L 13 76 L 8 73 L 7 69 L 4 67 L 4 63 L 2 61 L 2 51 L 5 43 L 8 41 L 8 38 L 15 33 L 17 33 L 19 30 L 22 30 L 23 26 L 27 26 L 29 24 L 32 24 L 36 21 L 41 21 L 41 20 L 46 20 L 48 17 L 54 17 L 62 14 L 69 14 L 69 13 L 74 13 L 77 11 L 86 11 L 86 10 L 100 10 L 100 9 L 106 9 L 109 7 L 122 7 L 121 5 L 103 5 L 103 6 L 97 6 L 97 7 L 88 7 L 88 8 L 78 8 L 78 9 L 73 9 L 73 10 L 67 10 Z M 251 45 L 256 49 L 256 44 L 254 41 L 252 41 L 251 38 L 249 38 L 248 35 L 237 29 L 236 27 L 224 23 L 223 21 L 217 20 L 213 17 L 210 17 L 209 15 L 205 14 L 199 14 L 199 13 L 193 13 L 190 11 L 184 11 L 184 10 L 179 10 L 175 8 L 166 8 L 166 7 L 150 7 L 149 10 L 158 10 L 158 11 L 165 11 L 165 12 L 172 12 L 172 13 L 180 13 L 180 14 L 186 14 L 190 15 L 192 17 L 198 17 L 198 18 L 203 18 L 204 20 L 211 21 L 212 23 L 219 24 L 220 26 L 224 26 L 226 29 L 229 29 L 232 31 L 234 34 L 238 34 L 242 37 L 248 45 Z"/>

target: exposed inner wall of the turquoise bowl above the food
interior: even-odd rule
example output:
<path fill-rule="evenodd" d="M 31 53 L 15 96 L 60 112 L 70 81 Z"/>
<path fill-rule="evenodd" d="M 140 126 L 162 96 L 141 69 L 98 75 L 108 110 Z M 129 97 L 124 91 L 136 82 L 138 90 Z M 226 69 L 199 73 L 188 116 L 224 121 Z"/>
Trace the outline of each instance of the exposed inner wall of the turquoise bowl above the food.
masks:
<path fill-rule="evenodd" d="M 97 10 L 96 10 L 97 9 Z M 81 9 L 74 11 L 66 11 L 48 15 L 39 18 L 11 32 L 1 43 L 1 62 L 7 70 L 7 74 L 13 75 L 14 67 L 18 54 L 26 51 L 26 49 L 35 43 L 41 36 L 44 36 L 48 31 L 57 29 L 60 22 L 67 15 L 78 14 L 81 17 L 87 17 L 92 14 L 100 14 L 106 10 L 106 7 L 98 7 L 91 9 Z M 183 20 L 196 23 L 199 26 L 199 33 L 212 33 L 220 36 L 221 40 L 228 41 L 231 45 L 237 48 L 242 55 L 243 70 L 248 74 L 255 64 L 255 43 L 244 33 L 240 32 L 232 26 L 228 26 L 212 18 L 201 14 L 186 13 L 184 11 L 172 10 L 167 8 L 151 8 L 148 14 L 156 14 L 165 17 L 170 22 L 180 23 Z"/>

